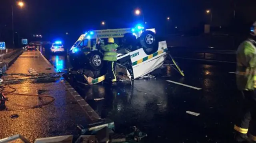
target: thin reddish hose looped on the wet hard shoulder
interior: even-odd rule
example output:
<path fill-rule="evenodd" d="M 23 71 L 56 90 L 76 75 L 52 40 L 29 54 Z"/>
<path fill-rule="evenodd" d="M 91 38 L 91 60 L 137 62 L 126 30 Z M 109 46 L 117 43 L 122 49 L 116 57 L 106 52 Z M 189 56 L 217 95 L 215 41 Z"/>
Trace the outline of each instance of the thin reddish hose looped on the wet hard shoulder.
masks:
<path fill-rule="evenodd" d="M 18 110 L 26 110 L 26 109 L 39 108 L 39 107 L 42 107 L 42 106 L 46 106 L 46 105 L 48 105 L 48 104 L 54 102 L 54 100 L 55 100 L 54 97 L 49 96 L 49 95 L 14 93 L 15 91 L 17 91 L 17 89 L 14 88 L 14 87 L 11 87 L 10 85 L 8 85 L 8 87 L 11 88 L 11 89 L 13 89 L 13 90 L 10 91 L 10 92 L 2 92 L 3 94 L 12 94 L 12 95 L 20 95 L 20 96 L 47 97 L 47 98 L 52 98 L 52 100 L 50 100 L 50 101 L 48 101 L 48 102 L 45 102 L 45 103 L 42 103 L 42 104 L 37 104 L 37 105 L 32 105 L 32 106 L 23 106 L 23 105 L 16 104 L 17 106 L 21 106 L 21 107 L 24 107 L 24 108 L 20 108 L 20 109 L 8 109 L 8 108 L 6 108 L 6 110 L 2 110 L 2 111 L 18 111 Z M 14 103 L 14 104 L 15 104 L 15 103 Z"/>

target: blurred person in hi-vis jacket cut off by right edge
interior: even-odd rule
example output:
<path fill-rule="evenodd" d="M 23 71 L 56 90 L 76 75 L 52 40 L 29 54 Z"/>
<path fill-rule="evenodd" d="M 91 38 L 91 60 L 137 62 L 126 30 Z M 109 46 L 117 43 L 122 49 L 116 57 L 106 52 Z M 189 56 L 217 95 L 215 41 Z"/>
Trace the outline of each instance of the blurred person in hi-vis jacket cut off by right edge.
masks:
<path fill-rule="evenodd" d="M 236 83 L 243 99 L 239 121 L 234 125 L 235 140 L 256 143 L 256 22 L 248 39 L 239 45 L 236 59 Z"/>

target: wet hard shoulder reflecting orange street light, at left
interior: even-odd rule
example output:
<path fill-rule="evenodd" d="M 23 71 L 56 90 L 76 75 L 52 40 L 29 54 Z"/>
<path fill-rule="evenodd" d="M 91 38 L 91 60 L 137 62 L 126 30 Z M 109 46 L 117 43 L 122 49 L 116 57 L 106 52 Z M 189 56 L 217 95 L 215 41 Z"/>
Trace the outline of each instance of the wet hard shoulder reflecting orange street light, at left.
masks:
<path fill-rule="evenodd" d="M 76 133 L 78 123 L 86 123 L 86 117 L 82 108 L 77 104 L 74 97 L 67 92 L 60 79 L 57 80 L 26 80 L 31 78 L 28 69 L 36 69 L 38 73 L 53 73 L 53 67 L 36 51 L 23 53 L 14 64 L 6 71 L 6 80 L 15 79 L 10 86 L 16 88 L 15 93 L 39 94 L 52 96 L 55 100 L 46 106 L 38 106 L 50 102 L 52 97 L 22 96 L 6 94 L 8 100 L 7 111 L 0 111 L 0 139 L 16 134 L 21 134 L 29 141 L 34 142 L 36 138 L 52 137 L 56 135 L 70 135 Z M 47 68 L 51 68 L 46 70 Z M 12 91 L 8 86 L 4 92 Z M 28 109 L 29 108 L 29 109 Z M 10 118 L 17 114 L 18 118 Z"/>

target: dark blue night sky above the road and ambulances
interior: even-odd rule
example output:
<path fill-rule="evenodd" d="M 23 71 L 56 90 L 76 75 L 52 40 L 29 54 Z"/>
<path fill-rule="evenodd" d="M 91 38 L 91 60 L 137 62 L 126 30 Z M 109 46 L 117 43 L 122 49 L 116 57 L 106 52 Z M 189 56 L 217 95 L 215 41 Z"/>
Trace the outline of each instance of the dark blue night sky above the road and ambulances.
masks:
<path fill-rule="evenodd" d="M 238 2 L 239 1 L 239 2 Z M 134 10 L 140 8 L 148 27 L 178 26 L 191 29 L 206 23 L 212 11 L 212 25 L 230 25 L 236 3 L 236 16 L 244 22 L 256 20 L 255 0 L 0 0 L 0 29 L 12 28 L 21 35 L 39 33 L 54 37 L 63 33 L 78 35 L 90 29 L 132 27 L 142 20 Z M 170 17 L 170 21 L 166 18 Z M 100 25 L 105 21 L 106 25 Z"/>

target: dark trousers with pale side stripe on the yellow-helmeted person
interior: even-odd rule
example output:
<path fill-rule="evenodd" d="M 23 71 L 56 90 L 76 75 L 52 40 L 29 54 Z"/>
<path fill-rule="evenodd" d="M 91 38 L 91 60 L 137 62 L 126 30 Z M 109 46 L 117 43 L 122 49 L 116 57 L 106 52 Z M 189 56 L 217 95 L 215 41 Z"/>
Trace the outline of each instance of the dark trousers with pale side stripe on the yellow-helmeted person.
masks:
<path fill-rule="evenodd" d="M 107 74 L 106 79 L 111 80 L 111 82 L 116 82 L 116 61 L 107 61 Z"/>

